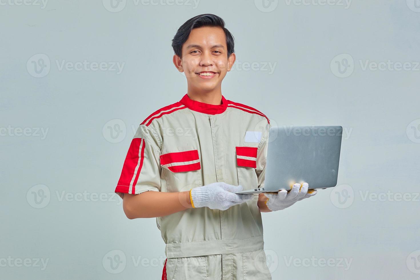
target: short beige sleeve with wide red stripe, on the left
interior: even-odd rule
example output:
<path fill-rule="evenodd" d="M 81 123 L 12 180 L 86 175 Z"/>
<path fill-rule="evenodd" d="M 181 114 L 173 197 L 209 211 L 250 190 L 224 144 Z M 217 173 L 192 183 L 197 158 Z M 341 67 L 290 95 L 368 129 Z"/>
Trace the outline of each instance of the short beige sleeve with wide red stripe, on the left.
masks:
<path fill-rule="evenodd" d="M 160 191 L 159 154 L 159 144 L 153 131 L 140 125 L 131 140 L 115 193 L 123 198 L 123 194 Z"/>

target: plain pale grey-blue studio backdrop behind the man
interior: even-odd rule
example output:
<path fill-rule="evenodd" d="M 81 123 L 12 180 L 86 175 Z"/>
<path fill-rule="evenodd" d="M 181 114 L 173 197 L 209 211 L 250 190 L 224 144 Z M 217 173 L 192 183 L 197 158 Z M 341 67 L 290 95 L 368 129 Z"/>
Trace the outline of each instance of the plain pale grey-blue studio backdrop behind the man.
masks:
<path fill-rule="evenodd" d="M 139 123 L 186 93 L 171 39 L 202 13 L 235 37 L 227 99 L 344 128 L 337 187 L 262 213 L 273 279 L 420 277 L 419 1 L 0 4 L 1 279 L 160 279 L 155 218 L 114 190 Z"/>

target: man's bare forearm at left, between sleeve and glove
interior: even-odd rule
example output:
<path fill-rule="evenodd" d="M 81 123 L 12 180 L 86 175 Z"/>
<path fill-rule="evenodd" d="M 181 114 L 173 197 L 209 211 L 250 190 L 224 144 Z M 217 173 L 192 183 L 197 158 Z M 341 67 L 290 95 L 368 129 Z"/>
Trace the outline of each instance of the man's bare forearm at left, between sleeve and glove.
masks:
<path fill-rule="evenodd" d="M 123 209 L 129 219 L 154 218 L 192 208 L 189 191 L 145 191 L 124 194 Z"/>

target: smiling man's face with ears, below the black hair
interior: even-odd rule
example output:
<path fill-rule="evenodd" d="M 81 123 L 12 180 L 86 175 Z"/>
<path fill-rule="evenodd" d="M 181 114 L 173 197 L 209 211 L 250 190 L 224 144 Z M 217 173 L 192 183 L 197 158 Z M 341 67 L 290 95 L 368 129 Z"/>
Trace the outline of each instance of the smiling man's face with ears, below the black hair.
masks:
<path fill-rule="evenodd" d="M 173 62 L 185 73 L 189 87 L 211 91 L 221 86 L 235 61 L 235 55 L 228 59 L 227 53 L 223 29 L 205 26 L 192 29 L 182 45 L 181 60 L 174 55 Z"/>

